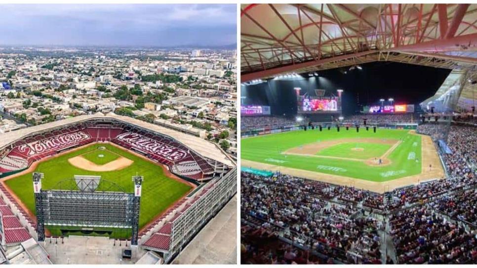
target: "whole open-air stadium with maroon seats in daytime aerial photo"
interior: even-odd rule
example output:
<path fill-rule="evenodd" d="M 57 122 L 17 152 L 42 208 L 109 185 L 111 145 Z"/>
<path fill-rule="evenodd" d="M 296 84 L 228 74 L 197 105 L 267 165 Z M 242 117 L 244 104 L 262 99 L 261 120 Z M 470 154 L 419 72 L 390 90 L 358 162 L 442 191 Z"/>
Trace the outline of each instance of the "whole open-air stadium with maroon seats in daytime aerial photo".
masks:
<path fill-rule="evenodd" d="M 1 134 L 2 252 L 171 263 L 237 192 L 235 165 L 204 139 L 113 113 Z"/>

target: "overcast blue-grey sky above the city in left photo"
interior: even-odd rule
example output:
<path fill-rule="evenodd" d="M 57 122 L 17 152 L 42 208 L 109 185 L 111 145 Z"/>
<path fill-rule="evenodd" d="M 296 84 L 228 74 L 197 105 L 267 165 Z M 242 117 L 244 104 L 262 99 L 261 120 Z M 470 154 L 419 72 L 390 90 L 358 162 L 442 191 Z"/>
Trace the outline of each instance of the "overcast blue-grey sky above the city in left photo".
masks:
<path fill-rule="evenodd" d="M 235 4 L 0 4 L 0 45 L 237 42 Z"/>

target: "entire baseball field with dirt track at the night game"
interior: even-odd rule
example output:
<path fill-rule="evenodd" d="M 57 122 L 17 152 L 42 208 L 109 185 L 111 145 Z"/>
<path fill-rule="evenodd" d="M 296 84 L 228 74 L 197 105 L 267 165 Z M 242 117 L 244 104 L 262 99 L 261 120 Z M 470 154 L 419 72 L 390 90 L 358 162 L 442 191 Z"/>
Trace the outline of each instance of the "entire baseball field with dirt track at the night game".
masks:
<path fill-rule="evenodd" d="M 409 130 L 342 127 L 248 137 L 241 140 L 241 159 L 245 167 L 347 185 L 443 175 L 430 137 Z"/>

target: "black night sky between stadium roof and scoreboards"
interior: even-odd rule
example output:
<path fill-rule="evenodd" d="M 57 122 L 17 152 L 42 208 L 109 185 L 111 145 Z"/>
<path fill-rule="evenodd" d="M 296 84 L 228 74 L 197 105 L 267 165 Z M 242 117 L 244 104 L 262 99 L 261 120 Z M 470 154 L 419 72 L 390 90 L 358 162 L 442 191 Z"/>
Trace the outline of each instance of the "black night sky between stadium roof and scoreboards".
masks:
<path fill-rule="evenodd" d="M 350 115 L 362 109 L 362 105 L 376 104 L 379 99 L 394 98 L 395 104 L 417 105 L 433 96 L 451 70 L 417 65 L 374 62 L 355 68 L 330 69 L 318 72 L 318 79 L 269 80 L 254 86 L 241 87 L 242 104 L 272 106 L 273 114 L 296 114 L 294 87 L 301 87 L 301 95 L 326 89 L 336 92 L 343 89 L 343 113 Z M 347 74 L 344 73 L 347 71 Z M 313 93 L 314 95 L 314 93 Z"/>

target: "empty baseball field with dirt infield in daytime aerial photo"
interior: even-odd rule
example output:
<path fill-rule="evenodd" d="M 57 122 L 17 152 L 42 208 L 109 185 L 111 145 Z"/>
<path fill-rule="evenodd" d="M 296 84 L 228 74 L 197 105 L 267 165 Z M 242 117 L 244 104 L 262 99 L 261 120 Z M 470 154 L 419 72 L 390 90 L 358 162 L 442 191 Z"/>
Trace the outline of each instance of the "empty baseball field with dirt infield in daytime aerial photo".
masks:
<path fill-rule="evenodd" d="M 45 159 L 38 165 L 34 163 L 34 166 L 28 170 L 3 179 L 5 185 L 32 214 L 35 214 L 33 172 L 44 173 L 42 189 L 46 190 L 56 189 L 58 182 L 71 179 L 74 175 L 97 175 L 101 176 L 102 180 L 118 184 L 128 193 L 134 190 L 131 177 L 136 174 L 144 176 L 139 215 L 140 228 L 154 220 L 193 188 L 192 184 L 174 177 L 164 167 L 140 155 L 113 144 L 96 143 Z M 98 188 L 101 188 L 101 183 Z M 69 228 L 47 227 L 47 229 L 52 235 L 59 235 L 60 230 L 65 231 Z M 87 233 L 115 238 L 130 235 L 130 230 L 98 229 L 94 231 Z M 74 230 L 71 233 L 76 234 Z"/>

